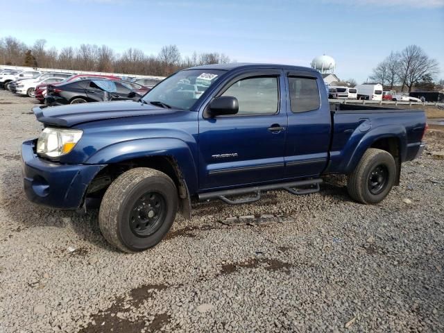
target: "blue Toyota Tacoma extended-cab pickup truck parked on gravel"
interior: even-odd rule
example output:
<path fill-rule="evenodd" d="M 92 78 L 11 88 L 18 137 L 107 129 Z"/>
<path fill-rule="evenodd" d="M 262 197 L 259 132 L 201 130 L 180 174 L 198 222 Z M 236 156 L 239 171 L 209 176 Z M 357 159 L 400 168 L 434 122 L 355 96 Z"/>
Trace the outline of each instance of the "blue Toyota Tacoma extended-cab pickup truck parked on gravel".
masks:
<path fill-rule="evenodd" d="M 103 236 L 125 252 L 155 246 L 176 212 L 190 218 L 191 198 L 310 194 L 341 173 L 351 198 L 379 203 L 425 147 L 424 112 L 330 105 L 318 71 L 286 65 L 193 67 L 139 101 L 33 111 L 44 129 L 22 145 L 26 196 L 99 206 Z"/>

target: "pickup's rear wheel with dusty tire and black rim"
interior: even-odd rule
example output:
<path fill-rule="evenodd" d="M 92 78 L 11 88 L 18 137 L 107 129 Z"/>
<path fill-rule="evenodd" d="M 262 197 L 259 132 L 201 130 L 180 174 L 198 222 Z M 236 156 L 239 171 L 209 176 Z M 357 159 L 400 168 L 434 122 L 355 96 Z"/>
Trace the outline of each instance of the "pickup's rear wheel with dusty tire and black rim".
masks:
<path fill-rule="evenodd" d="M 379 203 L 393 187 L 396 170 L 395 159 L 390 153 L 369 148 L 348 176 L 348 194 L 359 203 Z"/>

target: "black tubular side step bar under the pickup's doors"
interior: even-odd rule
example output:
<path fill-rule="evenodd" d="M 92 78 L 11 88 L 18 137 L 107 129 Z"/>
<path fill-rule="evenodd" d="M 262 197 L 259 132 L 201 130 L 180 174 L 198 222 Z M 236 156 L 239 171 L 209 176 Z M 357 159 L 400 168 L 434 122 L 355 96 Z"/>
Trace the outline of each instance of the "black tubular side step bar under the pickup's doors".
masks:
<path fill-rule="evenodd" d="M 242 203 L 254 203 L 261 198 L 261 191 L 271 191 L 273 189 L 286 189 L 291 194 L 298 196 L 302 194 L 311 194 L 319 191 L 319 184 L 322 179 L 307 179 L 297 182 L 281 182 L 280 184 L 261 185 L 254 187 L 242 187 L 240 189 L 226 189 L 223 191 L 214 191 L 198 194 L 199 200 L 219 199 L 230 205 L 240 205 Z M 296 187 L 311 187 L 308 189 L 297 189 Z M 242 194 L 255 194 L 250 198 L 231 200 L 227 196 L 240 196 Z"/>

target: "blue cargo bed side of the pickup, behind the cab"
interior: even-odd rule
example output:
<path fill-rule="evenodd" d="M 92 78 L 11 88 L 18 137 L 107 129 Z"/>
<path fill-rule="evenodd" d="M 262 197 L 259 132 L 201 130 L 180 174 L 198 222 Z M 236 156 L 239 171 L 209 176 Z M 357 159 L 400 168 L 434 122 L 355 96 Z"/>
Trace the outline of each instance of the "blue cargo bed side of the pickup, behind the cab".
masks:
<path fill-rule="evenodd" d="M 401 162 L 413 160 L 425 130 L 425 112 L 383 106 L 330 104 L 332 141 L 328 172 L 349 173 L 364 149 L 377 140 L 393 139 Z M 377 143 L 376 143 L 377 144 Z"/>

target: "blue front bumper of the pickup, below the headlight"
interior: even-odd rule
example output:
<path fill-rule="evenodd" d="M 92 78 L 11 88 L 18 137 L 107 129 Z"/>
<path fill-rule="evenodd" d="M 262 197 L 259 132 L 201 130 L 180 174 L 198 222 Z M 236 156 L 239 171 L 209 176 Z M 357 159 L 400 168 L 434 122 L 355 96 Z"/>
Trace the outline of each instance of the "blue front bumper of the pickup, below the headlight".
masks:
<path fill-rule="evenodd" d="M 33 148 L 33 141 L 22 144 L 22 177 L 28 200 L 64 210 L 78 209 L 89 183 L 105 165 L 50 162 L 37 157 Z"/>

